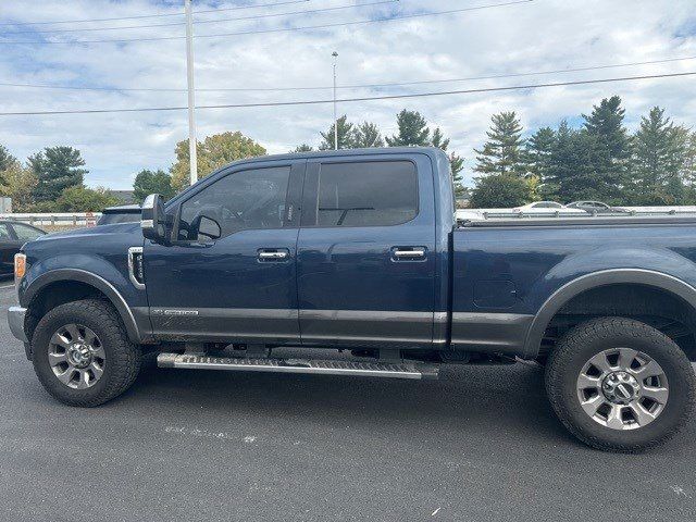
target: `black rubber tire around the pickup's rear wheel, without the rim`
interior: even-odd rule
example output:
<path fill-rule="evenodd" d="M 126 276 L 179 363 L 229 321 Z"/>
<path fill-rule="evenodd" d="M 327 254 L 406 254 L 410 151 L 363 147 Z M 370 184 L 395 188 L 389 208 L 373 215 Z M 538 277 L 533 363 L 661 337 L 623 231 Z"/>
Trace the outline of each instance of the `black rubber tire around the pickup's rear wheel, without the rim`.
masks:
<path fill-rule="evenodd" d="M 591 358 L 604 350 L 632 348 L 655 360 L 669 383 L 669 398 L 657 418 L 633 430 L 612 430 L 581 407 L 577 377 Z M 548 358 L 546 390 L 556 414 L 583 443 L 601 450 L 637 452 L 664 443 L 688 421 L 696 402 L 696 377 L 682 349 L 645 323 L 599 318 L 569 331 Z"/>

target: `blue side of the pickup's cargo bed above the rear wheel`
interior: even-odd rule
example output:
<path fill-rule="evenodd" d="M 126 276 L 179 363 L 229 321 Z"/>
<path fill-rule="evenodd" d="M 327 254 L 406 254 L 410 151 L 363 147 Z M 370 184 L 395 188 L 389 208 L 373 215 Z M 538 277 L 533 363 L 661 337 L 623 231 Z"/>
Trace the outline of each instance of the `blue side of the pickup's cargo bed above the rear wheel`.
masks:
<path fill-rule="evenodd" d="M 696 214 L 468 221 L 451 245 L 451 343 L 461 350 L 535 357 L 543 310 L 586 277 L 696 288 Z"/>

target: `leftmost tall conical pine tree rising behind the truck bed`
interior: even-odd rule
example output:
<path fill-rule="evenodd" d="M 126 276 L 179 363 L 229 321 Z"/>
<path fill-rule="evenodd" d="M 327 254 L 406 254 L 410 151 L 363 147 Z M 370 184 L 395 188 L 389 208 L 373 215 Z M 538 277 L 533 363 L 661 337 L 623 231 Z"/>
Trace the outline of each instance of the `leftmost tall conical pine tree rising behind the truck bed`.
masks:
<path fill-rule="evenodd" d="M 492 117 L 488 140 L 476 152 L 474 171 L 483 174 L 525 174 L 522 125 L 514 112 L 501 112 Z"/>

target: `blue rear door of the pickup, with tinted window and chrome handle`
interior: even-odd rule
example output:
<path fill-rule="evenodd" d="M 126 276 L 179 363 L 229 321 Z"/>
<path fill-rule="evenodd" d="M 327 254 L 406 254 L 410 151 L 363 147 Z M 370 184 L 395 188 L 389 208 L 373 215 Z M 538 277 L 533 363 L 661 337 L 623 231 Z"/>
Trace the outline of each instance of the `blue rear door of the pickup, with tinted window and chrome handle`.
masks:
<path fill-rule="evenodd" d="M 434 219 L 424 154 L 310 160 L 298 238 L 302 344 L 430 347 Z"/>

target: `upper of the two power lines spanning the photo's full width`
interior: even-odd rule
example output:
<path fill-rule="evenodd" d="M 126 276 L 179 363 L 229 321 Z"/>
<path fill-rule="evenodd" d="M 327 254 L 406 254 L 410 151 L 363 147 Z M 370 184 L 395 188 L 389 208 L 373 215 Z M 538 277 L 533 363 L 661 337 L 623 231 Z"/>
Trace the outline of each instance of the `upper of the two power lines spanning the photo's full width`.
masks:
<path fill-rule="evenodd" d="M 363 89 L 363 88 L 380 88 L 380 87 L 406 87 L 412 85 L 427 85 L 427 84 L 447 84 L 455 82 L 471 82 L 476 79 L 502 79 L 502 78 L 515 78 L 521 76 L 539 76 L 544 74 L 561 74 L 561 73 L 577 73 L 586 71 L 599 71 L 606 69 L 619 69 L 631 67 L 636 65 L 654 65 L 658 63 L 671 63 L 682 62 L 686 60 L 696 60 L 695 57 L 682 57 L 682 58 L 666 58 L 662 60 L 648 60 L 643 62 L 630 62 L 630 63 L 613 63 L 604 65 L 589 65 L 585 67 L 573 69 L 556 69 L 547 71 L 533 71 L 529 73 L 510 73 L 510 74 L 493 74 L 487 76 L 468 76 L 463 78 L 448 78 L 448 79 L 422 79 L 418 82 L 393 82 L 384 84 L 353 84 L 353 85 L 338 85 L 337 89 Z M 187 89 L 167 89 L 167 88 L 120 88 L 120 87 L 80 87 L 80 86 L 66 86 L 66 85 L 45 85 L 45 84 L 10 84 L 0 83 L 0 87 L 28 87 L 40 89 L 61 89 L 61 90 L 95 90 L 95 91 L 114 91 L 114 92 L 186 92 Z M 283 91 L 301 91 L 301 90 L 328 90 L 333 89 L 333 86 L 308 86 L 308 87 L 220 87 L 220 88 L 202 88 L 196 89 L 197 92 L 283 92 Z"/>

